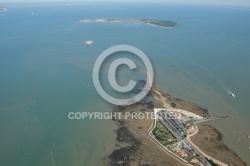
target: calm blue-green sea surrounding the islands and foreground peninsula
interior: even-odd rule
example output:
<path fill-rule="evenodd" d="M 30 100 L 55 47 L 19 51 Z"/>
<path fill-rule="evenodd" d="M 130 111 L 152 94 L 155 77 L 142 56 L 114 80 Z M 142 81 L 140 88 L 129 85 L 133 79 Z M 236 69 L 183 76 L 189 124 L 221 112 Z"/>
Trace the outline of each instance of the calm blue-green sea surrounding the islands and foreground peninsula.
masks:
<path fill-rule="evenodd" d="M 178 26 L 79 22 L 87 18 L 155 18 Z M 143 50 L 156 83 L 171 94 L 232 115 L 208 123 L 250 164 L 249 18 L 247 9 L 167 4 L 9 6 L 0 15 L 0 165 L 98 165 L 113 148 L 114 124 L 69 120 L 68 113 L 112 110 L 93 87 L 92 68 L 117 44 Z"/>

